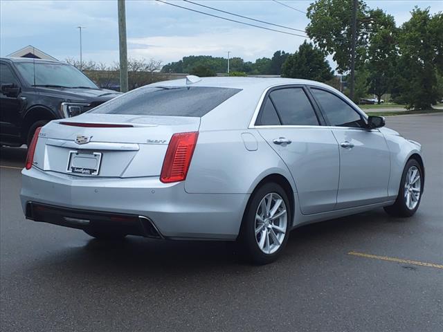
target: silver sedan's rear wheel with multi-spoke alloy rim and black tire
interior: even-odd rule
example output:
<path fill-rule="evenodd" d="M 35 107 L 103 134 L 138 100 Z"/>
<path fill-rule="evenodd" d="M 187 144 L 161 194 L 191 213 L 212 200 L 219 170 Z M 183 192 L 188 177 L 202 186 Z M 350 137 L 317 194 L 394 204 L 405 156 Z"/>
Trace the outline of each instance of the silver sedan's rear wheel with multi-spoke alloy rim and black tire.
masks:
<path fill-rule="evenodd" d="M 266 204 L 269 200 L 271 205 Z M 279 208 L 273 210 L 276 204 Z M 280 216 L 272 219 L 272 215 Z M 256 190 L 244 213 L 239 237 L 246 259 L 257 265 L 278 259 L 286 246 L 291 220 L 291 205 L 280 185 L 266 183 Z"/>

